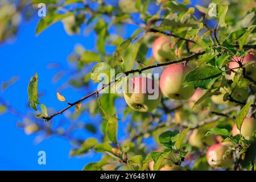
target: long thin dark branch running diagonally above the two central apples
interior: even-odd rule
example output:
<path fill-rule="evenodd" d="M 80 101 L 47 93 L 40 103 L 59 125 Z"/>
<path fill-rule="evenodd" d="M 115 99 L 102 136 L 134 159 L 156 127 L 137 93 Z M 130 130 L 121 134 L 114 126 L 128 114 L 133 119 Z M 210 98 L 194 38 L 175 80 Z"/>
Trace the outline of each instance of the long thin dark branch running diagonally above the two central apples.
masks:
<path fill-rule="evenodd" d="M 184 57 L 183 59 L 179 59 L 179 60 L 175 60 L 175 61 L 168 61 L 166 63 L 159 63 L 159 64 L 154 64 L 154 65 L 150 65 L 148 67 L 144 67 L 144 68 L 141 68 L 141 69 L 132 69 L 131 71 L 127 71 L 124 73 L 125 76 L 128 76 L 129 74 L 131 73 L 142 73 L 143 71 L 147 70 L 147 69 L 152 69 L 152 68 L 157 68 L 157 67 L 163 67 L 163 66 L 166 66 L 166 65 L 170 65 L 170 64 L 176 64 L 176 63 L 181 63 L 181 62 L 184 62 L 184 61 L 188 61 L 188 60 L 191 60 L 197 56 L 200 56 L 200 55 L 203 55 L 205 53 L 205 51 L 203 52 L 199 52 L 199 53 L 194 53 L 193 55 L 191 56 L 188 56 L 188 57 Z M 121 78 L 121 77 L 120 77 Z M 62 114 L 64 113 L 64 111 L 68 110 L 69 108 L 71 108 L 72 106 L 75 106 L 76 104 L 79 104 L 80 102 L 86 100 L 87 98 L 91 97 L 91 96 L 94 96 L 95 94 L 98 94 L 101 90 L 105 89 L 106 87 L 114 84 L 116 81 L 118 80 L 114 80 L 114 81 L 111 81 L 109 82 L 109 84 L 106 84 L 106 85 L 103 85 L 100 89 L 88 94 L 87 96 L 85 97 L 82 97 L 80 98 L 80 100 L 76 101 L 76 102 L 73 102 L 73 103 L 69 103 L 69 106 L 65 107 L 63 110 L 60 110 L 58 111 L 57 113 L 54 113 L 52 115 L 49 115 L 48 117 L 42 117 L 43 119 L 45 119 L 46 121 L 49 121 L 51 120 L 53 117 L 55 117 L 56 115 L 59 115 L 59 114 Z"/>

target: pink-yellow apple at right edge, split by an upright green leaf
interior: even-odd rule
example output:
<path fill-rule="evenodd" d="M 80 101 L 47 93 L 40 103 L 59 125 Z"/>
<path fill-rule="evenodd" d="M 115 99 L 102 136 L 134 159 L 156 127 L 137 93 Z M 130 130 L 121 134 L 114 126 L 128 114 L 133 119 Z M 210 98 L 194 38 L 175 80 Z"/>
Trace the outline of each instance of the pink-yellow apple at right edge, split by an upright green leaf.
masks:
<path fill-rule="evenodd" d="M 241 134 L 243 137 L 251 137 L 253 132 L 256 130 L 256 121 L 253 118 L 245 118 L 241 127 Z M 237 125 L 234 124 L 232 129 L 232 136 L 240 134 L 240 131 L 237 129 Z"/>

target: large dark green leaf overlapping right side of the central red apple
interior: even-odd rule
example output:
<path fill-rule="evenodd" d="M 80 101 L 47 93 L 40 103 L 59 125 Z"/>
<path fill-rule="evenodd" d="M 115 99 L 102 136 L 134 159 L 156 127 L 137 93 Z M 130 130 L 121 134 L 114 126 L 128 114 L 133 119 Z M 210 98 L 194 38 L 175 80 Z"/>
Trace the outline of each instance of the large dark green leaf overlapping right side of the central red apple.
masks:
<path fill-rule="evenodd" d="M 222 71 L 216 67 L 205 65 L 190 71 L 184 78 L 183 84 L 192 85 L 201 89 L 209 89 L 220 77 Z"/>

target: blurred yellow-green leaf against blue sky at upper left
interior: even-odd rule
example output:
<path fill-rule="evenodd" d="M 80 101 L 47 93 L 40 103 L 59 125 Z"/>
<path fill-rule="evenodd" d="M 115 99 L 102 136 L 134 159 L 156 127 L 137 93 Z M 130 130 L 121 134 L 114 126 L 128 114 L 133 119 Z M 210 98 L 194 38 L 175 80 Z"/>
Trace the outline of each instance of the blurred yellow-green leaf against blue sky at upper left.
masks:
<path fill-rule="evenodd" d="M 60 20 L 73 15 L 73 13 L 58 14 L 58 13 L 48 13 L 44 18 L 39 20 L 38 26 L 36 27 L 36 35 L 46 30 L 47 27 L 52 24 L 59 22 Z"/>

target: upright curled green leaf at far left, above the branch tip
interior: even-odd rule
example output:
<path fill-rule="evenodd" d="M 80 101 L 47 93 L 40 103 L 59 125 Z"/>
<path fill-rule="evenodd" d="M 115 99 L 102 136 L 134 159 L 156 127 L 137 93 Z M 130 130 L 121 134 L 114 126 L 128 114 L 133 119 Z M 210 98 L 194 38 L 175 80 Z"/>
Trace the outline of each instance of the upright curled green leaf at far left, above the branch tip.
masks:
<path fill-rule="evenodd" d="M 39 100 L 38 100 L 38 73 L 35 73 L 35 76 L 32 76 L 30 78 L 30 82 L 28 84 L 28 100 L 30 100 L 31 104 L 31 108 L 34 110 L 38 110 L 36 109 L 36 105 L 39 104 Z"/>

